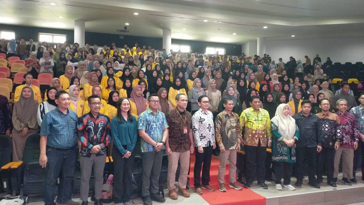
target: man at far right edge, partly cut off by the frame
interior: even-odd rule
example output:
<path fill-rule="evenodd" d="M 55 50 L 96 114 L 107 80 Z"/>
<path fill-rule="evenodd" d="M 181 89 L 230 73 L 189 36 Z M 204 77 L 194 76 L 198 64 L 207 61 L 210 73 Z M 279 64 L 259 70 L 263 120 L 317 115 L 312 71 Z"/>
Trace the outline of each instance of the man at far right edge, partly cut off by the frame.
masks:
<path fill-rule="evenodd" d="M 356 123 L 358 124 L 359 131 L 359 146 L 358 149 L 354 151 L 354 166 L 353 166 L 353 178 L 352 182 L 356 182 L 355 171 L 358 166 L 358 161 L 361 155 L 361 180 L 364 180 L 364 93 L 359 94 L 360 105 L 350 109 L 350 113 L 355 115 Z"/>

